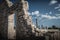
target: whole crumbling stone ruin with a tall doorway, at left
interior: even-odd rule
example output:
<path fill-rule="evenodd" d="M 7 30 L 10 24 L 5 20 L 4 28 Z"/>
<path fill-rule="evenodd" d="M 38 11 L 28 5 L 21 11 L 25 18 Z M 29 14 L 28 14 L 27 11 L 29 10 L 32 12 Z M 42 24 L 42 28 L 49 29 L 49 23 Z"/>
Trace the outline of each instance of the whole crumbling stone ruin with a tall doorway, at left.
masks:
<path fill-rule="evenodd" d="M 32 20 L 28 15 L 28 9 L 28 2 L 25 0 L 19 0 L 15 4 L 9 0 L 2 1 L 0 6 L 0 38 L 18 39 L 32 35 Z"/>

